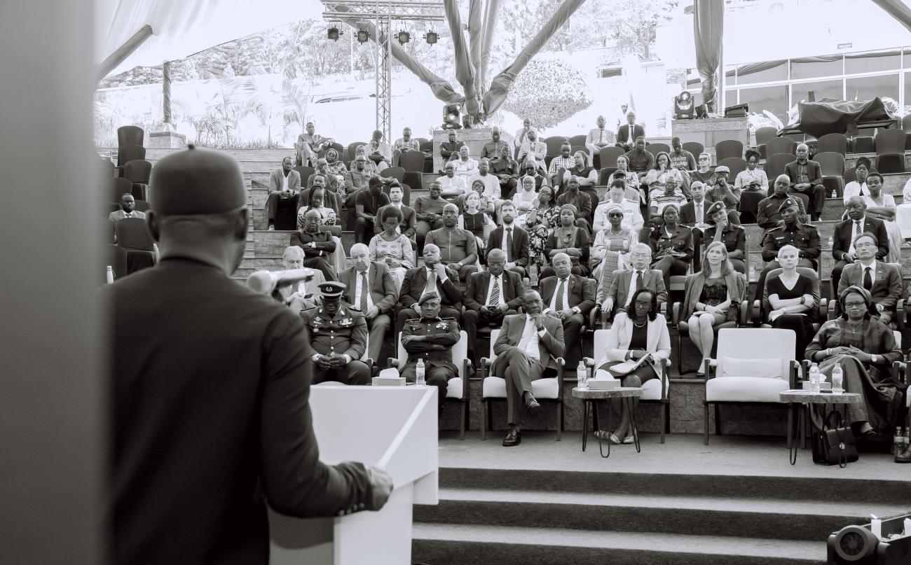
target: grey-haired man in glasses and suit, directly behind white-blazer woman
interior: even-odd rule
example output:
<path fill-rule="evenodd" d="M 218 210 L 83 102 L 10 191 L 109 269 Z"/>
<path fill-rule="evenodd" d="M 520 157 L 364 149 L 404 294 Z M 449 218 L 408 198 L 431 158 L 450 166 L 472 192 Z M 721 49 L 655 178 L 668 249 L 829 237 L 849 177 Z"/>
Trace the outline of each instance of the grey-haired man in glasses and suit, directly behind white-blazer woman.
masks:
<path fill-rule="evenodd" d="M 651 247 L 644 243 L 637 243 L 630 249 L 630 259 L 632 260 L 631 270 L 614 271 L 609 288 L 598 286 L 595 301 L 601 305 L 601 321 L 605 328 L 608 327 L 611 318 L 614 318 L 616 323 L 621 314 L 627 315 L 626 308 L 630 306 L 630 298 L 641 287 L 650 288 L 658 296 L 659 303 L 668 301 L 664 276 L 657 268 L 649 268 Z"/>

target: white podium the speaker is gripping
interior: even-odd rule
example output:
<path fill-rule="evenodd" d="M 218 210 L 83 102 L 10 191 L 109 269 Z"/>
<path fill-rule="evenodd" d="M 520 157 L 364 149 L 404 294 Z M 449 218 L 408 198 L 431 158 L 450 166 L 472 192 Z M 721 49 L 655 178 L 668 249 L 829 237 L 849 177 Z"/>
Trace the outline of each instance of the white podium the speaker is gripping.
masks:
<path fill-rule="evenodd" d="M 270 510 L 271 565 L 407 565 L 412 505 L 437 504 L 436 387 L 312 387 L 320 459 L 386 469 L 394 490 L 383 510 L 298 519 Z"/>

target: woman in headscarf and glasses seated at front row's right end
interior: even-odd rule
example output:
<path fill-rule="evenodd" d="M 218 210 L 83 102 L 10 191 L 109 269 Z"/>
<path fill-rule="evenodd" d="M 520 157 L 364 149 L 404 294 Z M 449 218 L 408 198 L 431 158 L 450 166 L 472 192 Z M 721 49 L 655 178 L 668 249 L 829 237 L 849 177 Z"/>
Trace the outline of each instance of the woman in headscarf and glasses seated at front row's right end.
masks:
<path fill-rule="evenodd" d="M 846 419 L 858 435 L 891 436 L 903 415 L 907 385 L 892 378 L 892 363 L 902 357 L 892 330 L 872 318 L 875 305 L 870 293 L 852 285 L 845 288 L 838 303 L 839 318 L 823 324 L 806 348 L 806 358 L 819 364 L 831 378 L 840 366 L 845 392 L 864 397 L 859 404 L 846 407 Z M 814 413 L 817 425 L 821 414 Z"/>

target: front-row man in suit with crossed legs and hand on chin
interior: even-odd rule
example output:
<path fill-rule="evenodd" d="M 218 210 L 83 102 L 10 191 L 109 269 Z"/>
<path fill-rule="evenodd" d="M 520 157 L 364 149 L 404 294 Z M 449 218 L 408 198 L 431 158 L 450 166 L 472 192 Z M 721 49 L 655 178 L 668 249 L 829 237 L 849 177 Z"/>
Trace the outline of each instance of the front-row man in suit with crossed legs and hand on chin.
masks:
<path fill-rule="evenodd" d="M 563 326 L 557 318 L 542 314 L 541 295 L 534 290 L 525 294 L 525 314 L 507 316 L 494 342 L 496 359 L 491 374 L 507 381 L 507 423 L 509 432 L 503 446 L 511 448 L 522 442 L 519 412 L 522 404 L 528 413 L 541 409 L 531 393 L 531 382 L 544 375 L 547 368 L 558 370 L 557 358 L 563 357 Z"/>

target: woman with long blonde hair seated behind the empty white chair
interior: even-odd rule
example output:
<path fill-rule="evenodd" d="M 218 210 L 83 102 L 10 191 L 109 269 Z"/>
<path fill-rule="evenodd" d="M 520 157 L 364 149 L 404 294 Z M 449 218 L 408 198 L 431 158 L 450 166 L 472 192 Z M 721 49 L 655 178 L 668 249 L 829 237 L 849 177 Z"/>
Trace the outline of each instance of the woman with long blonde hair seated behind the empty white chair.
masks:
<path fill-rule="evenodd" d="M 714 328 L 737 321 L 740 303 L 746 299 L 746 277 L 733 270 L 724 244 L 714 241 L 705 249 L 700 272 L 687 277 L 683 289 L 681 319 L 687 320 L 690 339 L 702 354 L 696 373 L 705 374 L 711 357 Z"/>

